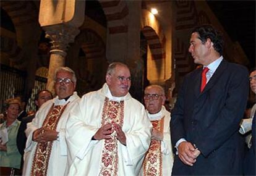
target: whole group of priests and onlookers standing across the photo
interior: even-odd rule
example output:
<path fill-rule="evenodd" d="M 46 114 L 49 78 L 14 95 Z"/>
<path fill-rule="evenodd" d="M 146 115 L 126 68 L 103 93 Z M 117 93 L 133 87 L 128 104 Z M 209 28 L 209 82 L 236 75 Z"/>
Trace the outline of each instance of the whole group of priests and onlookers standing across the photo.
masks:
<path fill-rule="evenodd" d="M 39 91 L 27 117 L 19 117 L 20 99 L 7 99 L 0 167 L 22 175 L 256 175 L 256 104 L 242 119 L 249 85 L 256 94 L 256 70 L 249 75 L 226 61 L 223 38 L 210 25 L 192 31 L 189 52 L 202 67 L 184 77 L 171 113 L 160 85 L 145 88 L 144 105 L 132 98 L 121 62 L 109 64 L 103 87 L 82 98 L 74 70 L 60 67 L 56 96 Z"/>

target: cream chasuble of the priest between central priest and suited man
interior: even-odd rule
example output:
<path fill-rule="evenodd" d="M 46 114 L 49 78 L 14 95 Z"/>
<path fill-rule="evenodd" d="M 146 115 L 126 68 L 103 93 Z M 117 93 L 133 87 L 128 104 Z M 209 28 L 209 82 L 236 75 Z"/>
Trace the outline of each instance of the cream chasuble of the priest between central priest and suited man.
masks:
<path fill-rule="evenodd" d="M 171 134 L 169 123 L 171 120 L 170 113 L 162 106 L 161 111 L 156 114 L 150 114 L 147 111 L 153 129 L 163 133 L 163 141 L 151 139 L 150 148 L 147 151 L 143 161 L 140 175 L 144 176 L 165 176 L 171 175 L 173 168 L 173 151 L 171 146 Z"/>

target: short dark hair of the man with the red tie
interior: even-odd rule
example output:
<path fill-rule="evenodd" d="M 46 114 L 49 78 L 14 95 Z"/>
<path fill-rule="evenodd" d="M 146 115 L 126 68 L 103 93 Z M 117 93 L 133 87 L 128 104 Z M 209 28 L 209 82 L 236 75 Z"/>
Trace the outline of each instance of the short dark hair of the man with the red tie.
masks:
<path fill-rule="evenodd" d="M 191 33 L 194 32 L 198 33 L 198 38 L 202 41 L 203 44 L 209 38 L 213 43 L 213 48 L 221 55 L 223 55 L 224 40 L 220 31 L 216 30 L 211 25 L 201 25 L 199 27 L 195 27 Z"/>

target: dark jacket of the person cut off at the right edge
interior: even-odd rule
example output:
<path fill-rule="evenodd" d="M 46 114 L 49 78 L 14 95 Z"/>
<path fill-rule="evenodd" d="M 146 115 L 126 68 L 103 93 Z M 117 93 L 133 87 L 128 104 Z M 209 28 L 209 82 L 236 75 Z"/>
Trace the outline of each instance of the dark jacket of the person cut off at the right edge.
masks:
<path fill-rule="evenodd" d="M 256 112 L 252 120 L 252 146 L 245 154 L 244 175 L 256 175 Z"/>

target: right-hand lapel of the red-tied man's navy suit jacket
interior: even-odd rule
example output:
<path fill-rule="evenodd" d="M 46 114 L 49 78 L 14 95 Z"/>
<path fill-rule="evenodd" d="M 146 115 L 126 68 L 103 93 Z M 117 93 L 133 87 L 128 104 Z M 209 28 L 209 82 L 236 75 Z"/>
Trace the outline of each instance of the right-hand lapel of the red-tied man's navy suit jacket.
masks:
<path fill-rule="evenodd" d="M 226 67 L 227 67 L 227 62 L 224 61 L 223 59 L 223 61 L 221 61 L 219 67 L 216 69 L 215 73 L 213 73 L 212 77 L 210 78 L 209 82 L 207 83 L 207 85 L 205 86 L 205 89 L 201 94 L 210 90 L 210 88 L 216 84 L 216 82 L 219 80 L 219 78 L 223 74 L 224 70 L 226 70 Z"/>

